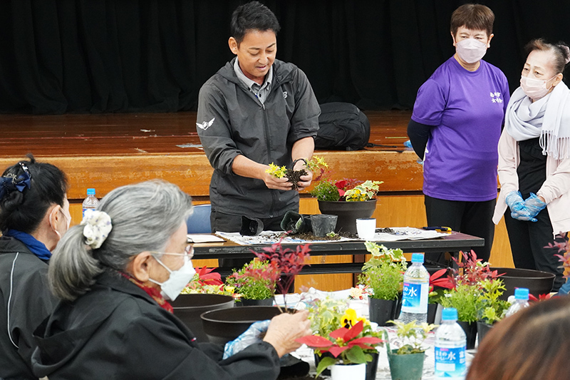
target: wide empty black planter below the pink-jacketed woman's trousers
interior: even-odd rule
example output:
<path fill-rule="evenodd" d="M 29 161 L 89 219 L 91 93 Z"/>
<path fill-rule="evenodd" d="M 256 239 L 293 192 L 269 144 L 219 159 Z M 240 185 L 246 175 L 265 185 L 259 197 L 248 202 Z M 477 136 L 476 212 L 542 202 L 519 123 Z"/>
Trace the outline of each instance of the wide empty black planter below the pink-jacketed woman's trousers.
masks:
<path fill-rule="evenodd" d="M 514 294 L 514 289 L 517 287 L 526 287 L 529 289 L 529 294 L 537 298 L 540 294 L 550 293 L 556 277 L 552 273 L 532 269 L 497 267 L 491 268 L 491 270 L 496 270 L 499 274 L 504 273 L 499 278 L 503 280 L 504 287 L 507 290 L 499 298 L 505 301 Z"/>

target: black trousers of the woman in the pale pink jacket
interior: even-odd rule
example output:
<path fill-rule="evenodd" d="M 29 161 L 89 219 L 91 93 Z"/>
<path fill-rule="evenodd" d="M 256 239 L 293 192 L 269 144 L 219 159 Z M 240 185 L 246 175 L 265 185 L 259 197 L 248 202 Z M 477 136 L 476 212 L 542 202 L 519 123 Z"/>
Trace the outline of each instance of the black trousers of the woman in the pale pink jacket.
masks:
<path fill-rule="evenodd" d="M 566 282 L 563 278 L 564 269 L 560 268 L 561 262 L 554 256 L 559 253 L 556 248 L 547 247 L 554 243 L 554 234 L 548 210 L 545 208 L 537 215 L 537 222 L 525 222 L 511 217 L 511 210 L 507 208 L 504 213 L 504 222 L 509 233 L 511 243 L 512 260 L 514 267 L 522 269 L 541 270 L 556 274 L 553 292 Z M 556 235 L 556 240 L 561 242 L 563 237 Z"/>

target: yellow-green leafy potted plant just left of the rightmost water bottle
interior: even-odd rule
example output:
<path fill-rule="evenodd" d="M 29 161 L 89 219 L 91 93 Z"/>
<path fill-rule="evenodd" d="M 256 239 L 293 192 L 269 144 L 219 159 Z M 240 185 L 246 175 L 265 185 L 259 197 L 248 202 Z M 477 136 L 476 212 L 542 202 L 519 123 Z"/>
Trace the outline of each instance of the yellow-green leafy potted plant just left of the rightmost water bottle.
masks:
<path fill-rule="evenodd" d="M 501 299 L 504 292 L 502 279 L 484 279 L 481 282 L 481 293 L 477 299 L 477 334 L 481 343 L 484 335 L 489 332 L 495 322 L 504 317 L 510 304 Z"/>

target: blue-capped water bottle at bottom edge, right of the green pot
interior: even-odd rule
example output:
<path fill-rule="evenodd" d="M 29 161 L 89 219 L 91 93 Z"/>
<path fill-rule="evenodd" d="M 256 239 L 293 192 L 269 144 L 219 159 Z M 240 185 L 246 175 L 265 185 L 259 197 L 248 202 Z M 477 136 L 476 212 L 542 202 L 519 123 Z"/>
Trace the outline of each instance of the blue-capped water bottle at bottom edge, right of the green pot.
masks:
<path fill-rule="evenodd" d="M 463 380 L 467 375 L 467 337 L 457 324 L 457 309 L 446 307 L 435 331 L 435 379 Z"/>

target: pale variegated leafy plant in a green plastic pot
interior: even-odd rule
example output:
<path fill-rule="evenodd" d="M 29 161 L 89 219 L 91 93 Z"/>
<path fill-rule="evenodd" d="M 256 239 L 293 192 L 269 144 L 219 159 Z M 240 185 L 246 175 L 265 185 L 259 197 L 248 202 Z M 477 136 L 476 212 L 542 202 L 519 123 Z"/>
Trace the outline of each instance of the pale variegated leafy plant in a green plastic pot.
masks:
<path fill-rule="evenodd" d="M 392 349 L 385 332 L 386 352 L 390 365 L 390 376 L 393 380 L 422 379 L 425 350 L 423 346 L 427 335 L 435 328 L 434 324 L 418 324 L 412 321 L 405 324 L 400 321 L 390 321 L 396 327 L 398 348 Z"/>

